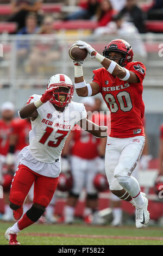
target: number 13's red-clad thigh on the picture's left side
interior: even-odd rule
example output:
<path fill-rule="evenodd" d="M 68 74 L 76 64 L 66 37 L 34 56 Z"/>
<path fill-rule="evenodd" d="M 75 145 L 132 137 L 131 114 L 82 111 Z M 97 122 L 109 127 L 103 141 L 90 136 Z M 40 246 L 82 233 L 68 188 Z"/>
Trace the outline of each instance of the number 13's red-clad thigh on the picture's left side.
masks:
<path fill-rule="evenodd" d="M 35 173 L 27 166 L 20 164 L 12 179 L 10 202 L 16 205 L 22 205 L 35 179 Z"/>

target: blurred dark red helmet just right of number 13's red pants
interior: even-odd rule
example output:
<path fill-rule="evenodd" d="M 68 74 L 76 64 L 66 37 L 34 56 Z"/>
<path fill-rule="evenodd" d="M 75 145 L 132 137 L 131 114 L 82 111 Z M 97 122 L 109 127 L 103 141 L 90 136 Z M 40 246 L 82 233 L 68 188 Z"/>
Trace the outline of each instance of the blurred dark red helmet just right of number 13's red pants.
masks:
<path fill-rule="evenodd" d="M 60 173 L 58 179 L 58 190 L 65 192 L 70 191 L 73 185 L 73 179 L 71 172 Z"/>

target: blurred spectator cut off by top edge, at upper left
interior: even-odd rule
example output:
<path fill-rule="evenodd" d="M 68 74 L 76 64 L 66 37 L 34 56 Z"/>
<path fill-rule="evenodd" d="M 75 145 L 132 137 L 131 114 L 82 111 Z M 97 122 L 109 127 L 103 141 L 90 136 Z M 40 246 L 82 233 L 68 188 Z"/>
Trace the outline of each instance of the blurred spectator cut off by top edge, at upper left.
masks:
<path fill-rule="evenodd" d="M 18 23 L 18 29 L 25 26 L 26 16 L 30 11 L 38 14 L 42 0 L 11 0 L 11 17 L 8 21 Z"/>

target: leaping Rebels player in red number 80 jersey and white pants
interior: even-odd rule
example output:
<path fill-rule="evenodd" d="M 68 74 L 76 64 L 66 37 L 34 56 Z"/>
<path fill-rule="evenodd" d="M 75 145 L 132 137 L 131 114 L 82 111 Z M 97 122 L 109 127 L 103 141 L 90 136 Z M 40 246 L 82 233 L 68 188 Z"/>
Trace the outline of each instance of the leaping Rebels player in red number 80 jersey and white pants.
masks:
<path fill-rule="evenodd" d="M 103 66 L 93 71 L 93 81 L 86 84 L 83 62 L 74 62 L 74 87 L 79 96 L 101 93 L 110 110 L 110 132 L 105 151 L 106 176 L 111 192 L 135 206 L 136 227 L 142 228 L 149 222 L 148 199 L 131 174 L 145 144 L 142 82 L 146 67 L 141 62 L 133 62 L 133 50 L 122 39 L 112 40 L 105 47 L 103 56 L 86 42 L 77 41 L 76 45 L 85 48 L 90 57 Z"/>

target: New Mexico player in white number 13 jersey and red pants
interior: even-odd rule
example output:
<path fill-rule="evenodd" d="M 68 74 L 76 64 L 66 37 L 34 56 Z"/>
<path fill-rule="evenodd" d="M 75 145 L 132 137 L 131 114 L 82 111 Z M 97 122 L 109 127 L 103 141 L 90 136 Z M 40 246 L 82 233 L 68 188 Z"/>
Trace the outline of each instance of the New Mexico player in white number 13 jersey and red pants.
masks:
<path fill-rule="evenodd" d="M 57 74 L 49 79 L 42 96 L 30 96 L 27 105 L 18 112 L 20 118 L 31 118 L 32 130 L 29 146 L 18 155 L 20 164 L 11 184 L 10 208 L 18 222 L 5 232 L 9 245 L 20 245 L 17 233 L 39 220 L 51 202 L 58 184 L 61 151 L 73 126 L 78 123 L 92 135 L 106 137 L 107 127 L 87 120 L 83 103 L 72 99 L 72 81 Z M 33 182 L 33 205 L 23 215 L 23 202 Z"/>

